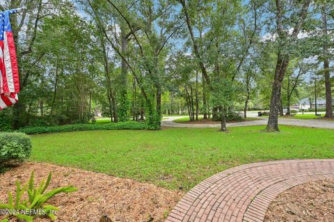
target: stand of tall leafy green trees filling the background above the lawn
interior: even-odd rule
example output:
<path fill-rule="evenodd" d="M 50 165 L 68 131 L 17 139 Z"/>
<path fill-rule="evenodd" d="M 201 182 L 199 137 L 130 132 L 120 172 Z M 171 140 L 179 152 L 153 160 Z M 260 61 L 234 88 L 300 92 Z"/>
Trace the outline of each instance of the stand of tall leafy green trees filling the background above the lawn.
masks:
<path fill-rule="evenodd" d="M 222 121 L 270 109 L 269 131 L 290 107 L 318 96 L 333 117 L 331 0 L 10 0 L 19 103 L 0 129 L 146 121 L 162 114 Z M 312 102 L 310 102 L 312 106 Z M 312 107 L 311 107 L 312 108 Z"/>

